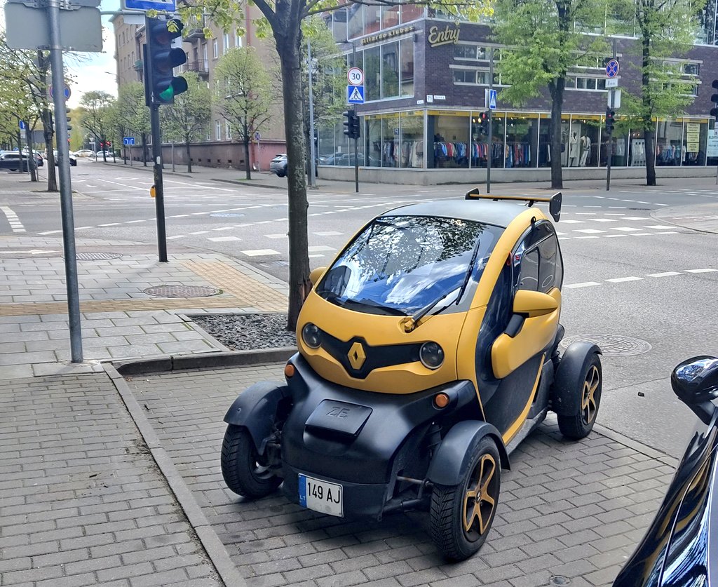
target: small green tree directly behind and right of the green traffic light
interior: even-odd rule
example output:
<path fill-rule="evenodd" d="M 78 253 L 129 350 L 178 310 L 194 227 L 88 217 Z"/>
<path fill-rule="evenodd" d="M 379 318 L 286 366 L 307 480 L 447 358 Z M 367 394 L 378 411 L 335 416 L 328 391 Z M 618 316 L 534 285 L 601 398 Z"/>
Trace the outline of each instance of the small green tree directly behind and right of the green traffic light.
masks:
<path fill-rule="evenodd" d="M 182 77 L 187 80 L 187 91 L 174 96 L 174 104 L 162 106 L 162 127 L 165 138 L 179 139 L 185 143 L 187 153 L 187 173 L 192 173 L 190 143 L 200 137 L 212 115 L 212 93 L 207 83 L 192 71 L 185 71 Z"/>

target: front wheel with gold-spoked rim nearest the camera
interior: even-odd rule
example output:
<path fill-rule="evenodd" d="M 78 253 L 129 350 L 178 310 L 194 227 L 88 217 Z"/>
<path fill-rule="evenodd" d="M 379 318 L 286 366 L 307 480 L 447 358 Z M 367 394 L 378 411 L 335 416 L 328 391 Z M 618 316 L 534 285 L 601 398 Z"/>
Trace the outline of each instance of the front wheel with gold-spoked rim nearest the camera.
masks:
<path fill-rule="evenodd" d="M 435 485 L 432 492 L 432 540 L 444 556 L 465 560 L 477 553 L 491 530 L 500 489 L 498 449 L 491 438 L 483 438 L 460 483 Z M 471 510 L 468 521 L 467 509 Z"/>

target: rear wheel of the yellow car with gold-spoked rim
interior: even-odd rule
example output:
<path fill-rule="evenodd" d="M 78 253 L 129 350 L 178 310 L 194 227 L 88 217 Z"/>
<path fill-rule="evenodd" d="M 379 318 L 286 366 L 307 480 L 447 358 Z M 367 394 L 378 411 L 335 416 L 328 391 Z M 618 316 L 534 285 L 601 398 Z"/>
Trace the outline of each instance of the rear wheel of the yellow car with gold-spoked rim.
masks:
<path fill-rule="evenodd" d="M 580 440 L 593 430 L 601 405 L 602 385 L 603 371 L 597 353 L 592 353 L 590 359 L 584 362 L 578 382 L 574 382 L 570 387 L 565 382 L 556 382 L 554 393 L 564 398 L 565 405 L 573 406 L 572 413 L 556 415 L 559 430 L 566 438 Z"/>

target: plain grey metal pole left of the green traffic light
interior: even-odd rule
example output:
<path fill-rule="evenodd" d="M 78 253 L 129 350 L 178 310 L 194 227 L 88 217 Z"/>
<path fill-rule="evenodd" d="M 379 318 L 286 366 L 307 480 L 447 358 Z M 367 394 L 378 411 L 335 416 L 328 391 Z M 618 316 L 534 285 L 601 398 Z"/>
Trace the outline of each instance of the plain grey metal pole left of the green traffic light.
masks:
<path fill-rule="evenodd" d="M 47 21 L 50 29 L 50 64 L 52 85 L 65 86 L 60 42 L 60 0 L 48 0 Z M 65 92 L 55 92 L 55 132 L 57 133 L 58 167 L 60 169 L 60 214 L 62 216 L 62 246 L 65 252 L 67 287 L 67 318 L 70 325 L 70 355 L 73 363 L 83 362 L 83 339 L 80 330 L 80 295 L 78 293 L 78 262 L 75 253 L 75 221 L 73 219 L 73 188 L 70 183 L 70 153 L 67 147 L 67 108 Z M 62 124 L 61 124 L 62 122 Z M 50 170 L 48 170 L 50 172 Z"/>

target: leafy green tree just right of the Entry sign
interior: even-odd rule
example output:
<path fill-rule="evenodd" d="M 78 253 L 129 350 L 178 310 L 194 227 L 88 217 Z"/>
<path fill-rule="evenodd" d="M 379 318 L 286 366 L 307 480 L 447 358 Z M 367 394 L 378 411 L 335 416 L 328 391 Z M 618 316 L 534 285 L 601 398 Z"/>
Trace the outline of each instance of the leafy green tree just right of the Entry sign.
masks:
<path fill-rule="evenodd" d="M 586 34 L 603 24 L 604 0 L 496 0 L 493 32 L 502 45 L 497 63 L 500 93 L 520 105 L 551 97 L 551 187 L 563 188 L 561 114 L 570 70 L 583 60 L 605 55 L 605 41 Z"/>

